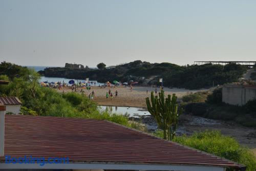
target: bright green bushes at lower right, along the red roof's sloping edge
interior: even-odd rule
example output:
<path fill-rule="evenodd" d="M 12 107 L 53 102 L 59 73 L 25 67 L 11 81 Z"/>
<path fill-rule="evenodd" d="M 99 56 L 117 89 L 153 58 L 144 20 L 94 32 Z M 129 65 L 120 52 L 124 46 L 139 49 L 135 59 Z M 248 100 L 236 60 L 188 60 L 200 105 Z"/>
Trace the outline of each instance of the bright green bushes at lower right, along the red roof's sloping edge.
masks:
<path fill-rule="evenodd" d="M 163 131 L 154 136 L 163 138 Z M 191 136 L 176 136 L 173 141 L 201 151 L 214 154 L 247 166 L 246 170 L 256 169 L 256 160 L 248 148 L 242 147 L 234 138 L 224 136 L 219 131 L 195 132 Z"/>

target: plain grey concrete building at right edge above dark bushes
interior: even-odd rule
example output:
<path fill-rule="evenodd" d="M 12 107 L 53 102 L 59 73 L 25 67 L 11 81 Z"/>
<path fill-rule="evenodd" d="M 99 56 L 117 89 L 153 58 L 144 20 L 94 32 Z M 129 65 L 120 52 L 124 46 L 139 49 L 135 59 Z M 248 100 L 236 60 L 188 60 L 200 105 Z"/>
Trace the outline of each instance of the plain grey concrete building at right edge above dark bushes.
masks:
<path fill-rule="evenodd" d="M 229 85 L 222 88 L 222 101 L 233 105 L 244 105 L 256 98 L 256 86 Z"/>

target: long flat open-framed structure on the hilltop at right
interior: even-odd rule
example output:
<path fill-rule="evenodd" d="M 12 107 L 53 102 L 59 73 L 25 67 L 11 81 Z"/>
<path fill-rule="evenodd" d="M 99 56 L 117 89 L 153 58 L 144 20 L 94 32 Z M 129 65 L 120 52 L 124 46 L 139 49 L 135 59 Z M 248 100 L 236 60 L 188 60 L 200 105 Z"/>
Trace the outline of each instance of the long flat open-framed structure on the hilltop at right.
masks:
<path fill-rule="evenodd" d="M 256 61 L 194 61 L 195 65 L 204 65 L 207 63 L 212 63 L 214 65 L 226 65 L 228 63 L 236 63 L 248 67 L 255 67 Z"/>

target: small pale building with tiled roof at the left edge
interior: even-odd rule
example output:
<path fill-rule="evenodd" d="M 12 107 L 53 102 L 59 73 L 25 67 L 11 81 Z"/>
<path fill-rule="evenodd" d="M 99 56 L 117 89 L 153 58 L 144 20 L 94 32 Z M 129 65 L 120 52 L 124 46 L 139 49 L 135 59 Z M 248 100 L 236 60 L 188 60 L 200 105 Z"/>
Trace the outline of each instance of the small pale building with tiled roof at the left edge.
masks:
<path fill-rule="evenodd" d="M 6 112 L 20 113 L 22 102 L 17 97 L 0 97 L 0 103 L 6 105 Z"/>

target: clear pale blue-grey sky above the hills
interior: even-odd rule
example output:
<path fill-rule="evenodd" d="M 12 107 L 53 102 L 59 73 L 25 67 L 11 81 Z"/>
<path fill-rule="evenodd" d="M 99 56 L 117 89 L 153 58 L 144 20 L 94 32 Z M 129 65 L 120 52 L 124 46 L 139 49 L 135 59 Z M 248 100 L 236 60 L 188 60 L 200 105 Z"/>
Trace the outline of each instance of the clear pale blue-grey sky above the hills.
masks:
<path fill-rule="evenodd" d="M 0 61 L 256 60 L 256 1 L 0 0 Z"/>

